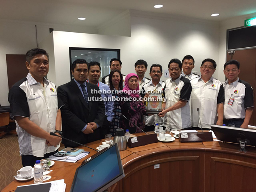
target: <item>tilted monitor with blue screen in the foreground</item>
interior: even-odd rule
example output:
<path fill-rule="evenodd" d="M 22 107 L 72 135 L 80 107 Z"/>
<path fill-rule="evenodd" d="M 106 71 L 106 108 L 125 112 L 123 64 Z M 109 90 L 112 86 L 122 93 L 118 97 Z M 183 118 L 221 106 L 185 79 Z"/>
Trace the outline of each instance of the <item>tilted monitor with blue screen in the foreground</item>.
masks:
<path fill-rule="evenodd" d="M 89 157 L 76 169 L 70 192 L 102 192 L 123 177 L 125 173 L 119 149 L 114 144 Z"/>

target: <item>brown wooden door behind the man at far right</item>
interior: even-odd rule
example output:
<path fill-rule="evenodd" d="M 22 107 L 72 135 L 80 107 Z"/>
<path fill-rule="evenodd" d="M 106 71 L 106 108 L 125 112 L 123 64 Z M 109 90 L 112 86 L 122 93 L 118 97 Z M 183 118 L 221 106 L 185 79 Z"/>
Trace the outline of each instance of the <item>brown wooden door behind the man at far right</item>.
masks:
<path fill-rule="evenodd" d="M 254 97 L 254 111 L 249 122 L 249 125 L 256 126 L 256 112 L 255 112 L 255 88 L 256 88 L 256 48 L 237 50 L 231 58 L 231 55 L 227 53 L 227 61 L 230 59 L 235 59 L 240 62 L 240 74 L 239 79 L 248 82 L 253 87 L 253 97 Z"/>

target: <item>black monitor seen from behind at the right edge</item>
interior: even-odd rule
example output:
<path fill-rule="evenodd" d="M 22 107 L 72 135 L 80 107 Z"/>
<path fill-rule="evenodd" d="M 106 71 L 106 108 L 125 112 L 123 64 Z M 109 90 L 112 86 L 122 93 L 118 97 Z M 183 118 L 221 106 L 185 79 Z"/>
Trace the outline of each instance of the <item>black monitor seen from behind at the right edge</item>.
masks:
<path fill-rule="evenodd" d="M 256 146 L 256 130 L 221 125 L 211 125 L 217 139 L 240 144 L 243 151 L 246 145 Z"/>

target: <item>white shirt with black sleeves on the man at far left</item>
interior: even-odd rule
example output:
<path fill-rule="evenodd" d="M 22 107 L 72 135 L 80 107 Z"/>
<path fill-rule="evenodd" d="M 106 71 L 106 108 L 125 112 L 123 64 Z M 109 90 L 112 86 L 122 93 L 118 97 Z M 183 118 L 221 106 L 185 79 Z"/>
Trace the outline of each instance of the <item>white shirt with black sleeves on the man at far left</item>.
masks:
<path fill-rule="evenodd" d="M 58 107 L 57 90 L 54 83 L 45 78 L 43 82 L 44 86 L 36 82 L 29 73 L 26 78 L 10 88 L 8 100 L 14 117 L 29 118 L 30 121 L 50 133 L 55 131 L 57 111 L 62 106 L 59 102 Z M 30 135 L 18 125 L 17 121 L 15 122 L 21 155 L 43 157 L 44 154 L 54 152 L 59 148 L 60 145 L 48 147 L 44 138 Z"/>

